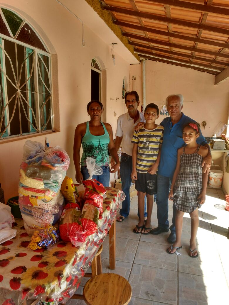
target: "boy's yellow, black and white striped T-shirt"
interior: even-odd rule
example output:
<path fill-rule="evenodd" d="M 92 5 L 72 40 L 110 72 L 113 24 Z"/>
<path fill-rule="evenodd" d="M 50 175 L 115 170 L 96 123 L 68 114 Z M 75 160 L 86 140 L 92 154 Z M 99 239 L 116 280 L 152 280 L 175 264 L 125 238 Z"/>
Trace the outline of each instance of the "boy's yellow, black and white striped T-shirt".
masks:
<path fill-rule="evenodd" d="M 147 173 L 149 168 L 156 162 L 159 146 L 163 142 L 164 127 L 158 125 L 155 129 L 149 130 L 144 127 L 134 131 L 132 143 L 138 144 L 136 171 Z"/>

